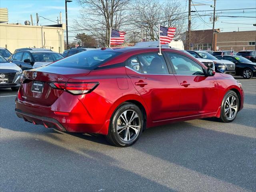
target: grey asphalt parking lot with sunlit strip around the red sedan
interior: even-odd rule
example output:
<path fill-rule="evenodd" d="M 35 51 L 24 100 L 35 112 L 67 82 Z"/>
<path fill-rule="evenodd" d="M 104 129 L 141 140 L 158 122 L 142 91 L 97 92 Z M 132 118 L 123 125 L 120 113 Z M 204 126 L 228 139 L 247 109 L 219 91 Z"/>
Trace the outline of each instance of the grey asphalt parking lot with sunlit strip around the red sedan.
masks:
<path fill-rule="evenodd" d="M 129 148 L 16 117 L 0 90 L 0 191 L 256 191 L 256 78 L 242 82 L 234 122 L 191 120 L 150 128 Z"/>

